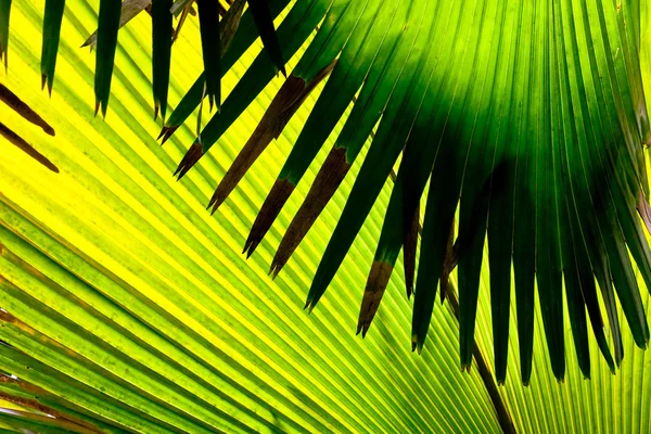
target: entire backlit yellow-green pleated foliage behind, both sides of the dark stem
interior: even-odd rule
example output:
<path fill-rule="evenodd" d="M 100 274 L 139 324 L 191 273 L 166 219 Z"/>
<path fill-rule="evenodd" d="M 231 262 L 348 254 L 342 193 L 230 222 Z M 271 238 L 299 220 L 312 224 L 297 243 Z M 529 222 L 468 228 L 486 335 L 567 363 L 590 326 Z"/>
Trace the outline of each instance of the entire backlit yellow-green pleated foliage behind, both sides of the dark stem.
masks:
<path fill-rule="evenodd" d="M 78 48 L 97 26 L 98 1 L 66 5 L 51 99 L 38 90 L 43 1 L 14 3 L 10 67 L 0 78 L 56 136 L 4 105 L 0 117 L 60 174 L 0 139 L 0 307 L 7 311 L 0 339 L 11 344 L 0 346 L 0 370 L 46 392 L 5 382 L 0 396 L 24 394 L 107 432 L 499 431 L 476 366 L 460 372 L 458 323 L 447 304 L 435 306 L 422 356 L 410 352 L 401 265 L 366 340 L 354 334 L 388 184 L 311 315 L 303 302 L 354 174 L 283 272 L 275 281 L 267 277 L 275 247 L 341 124 L 256 254 L 248 261 L 239 254 L 317 95 L 210 217 L 205 205 L 215 179 L 224 177 L 282 80 L 273 80 L 177 182 L 171 173 L 194 140 L 196 119 L 163 148 L 154 140 L 159 125 L 152 119 L 149 16 L 119 33 L 111 107 L 102 120 L 91 104 L 94 54 Z M 175 44 L 173 107 L 202 69 L 197 26 L 189 20 Z M 259 49 L 222 80 L 225 94 Z M 476 340 L 492 367 L 487 283 L 484 269 Z M 649 318 L 648 292 L 642 299 Z M 537 310 L 534 374 L 525 387 L 514 318 L 508 380 L 499 391 L 519 432 L 651 430 L 651 358 L 635 347 L 624 321 L 626 357 L 615 375 L 591 341 L 591 380 L 583 379 L 569 348 L 567 374 L 558 383 Z M 565 329 L 571 342 L 567 319 Z M 29 418 L 16 422 L 4 412 L 0 421 L 9 430 L 21 423 L 56 427 Z"/>

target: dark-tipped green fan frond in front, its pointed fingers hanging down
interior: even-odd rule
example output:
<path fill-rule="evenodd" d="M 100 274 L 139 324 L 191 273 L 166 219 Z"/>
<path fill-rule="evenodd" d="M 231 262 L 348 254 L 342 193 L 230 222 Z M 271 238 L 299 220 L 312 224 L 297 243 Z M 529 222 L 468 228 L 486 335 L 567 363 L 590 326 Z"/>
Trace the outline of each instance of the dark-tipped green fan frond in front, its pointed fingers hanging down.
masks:
<path fill-rule="evenodd" d="M 95 94 L 103 113 L 119 3 L 100 3 Z M 162 11 L 170 7 L 167 3 Z M 400 158 L 363 293 L 358 332 L 368 331 L 399 252 L 407 246 L 407 292 L 413 285 L 416 293 L 413 347 L 420 352 L 424 345 L 442 276 L 447 282 L 458 264 L 460 355 L 462 368 L 468 368 L 487 242 L 498 381 L 506 379 L 512 275 L 523 382 L 528 383 L 532 372 L 536 288 L 558 379 L 565 371 L 564 297 L 586 376 L 588 319 L 604 357 L 612 359 L 600 304 L 612 332 L 615 363 L 624 356 L 621 312 L 636 344 L 647 346 L 649 329 L 634 276 L 635 263 L 644 284 L 651 284 L 651 254 L 638 215 L 648 200 L 642 144 L 649 137 L 640 72 L 639 0 L 306 0 L 292 5 L 278 31 L 272 20 L 289 0 L 248 3 L 232 42 L 221 52 L 221 43 L 210 44 L 224 36 L 216 31 L 217 9 L 208 13 L 208 3 L 197 2 L 205 73 L 167 119 L 161 136 L 165 141 L 174 135 L 204 97 L 219 105 L 220 77 L 261 35 L 265 52 L 190 146 L 176 171 L 184 176 L 218 145 L 276 74 L 284 72 L 283 59 L 293 56 L 318 28 L 208 204 L 214 212 L 224 203 L 306 95 L 328 77 L 244 246 L 247 255 L 256 250 L 353 104 L 271 263 L 276 276 L 374 131 L 322 254 L 306 307 L 311 310 L 323 296 Z M 9 3 L 3 4 L 9 11 Z M 158 11 L 154 18 L 158 13 L 164 15 Z M 5 16 L 8 12 L 2 14 L 4 21 Z M 159 23 L 165 31 L 161 31 L 158 38 L 169 39 L 169 17 L 165 20 Z M 52 18 L 50 26 L 59 22 Z M 169 44 L 159 50 L 164 71 Z M 46 63 L 51 66 L 43 74 L 50 79 L 52 61 Z M 163 77 L 155 86 L 156 106 L 165 106 L 163 84 L 167 79 Z M 427 183 L 413 278 L 413 234 Z"/>

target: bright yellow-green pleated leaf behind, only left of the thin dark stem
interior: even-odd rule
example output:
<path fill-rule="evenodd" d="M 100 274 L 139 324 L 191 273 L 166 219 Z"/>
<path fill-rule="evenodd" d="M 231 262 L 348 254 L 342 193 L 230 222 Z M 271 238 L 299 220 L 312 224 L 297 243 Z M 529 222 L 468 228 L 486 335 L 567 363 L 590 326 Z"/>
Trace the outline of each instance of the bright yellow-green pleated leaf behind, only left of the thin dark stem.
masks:
<path fill-rule="evenodd" d="M 85 15 L 84 5 L 71 3 L 68 7 L 71 15 L 88 23 L 86 27 L 92 25 L 95 17 Z M 31 47 L 23 50 L 23 53 L 38 56 L 40 44 L 38 40 L 37 47 L 30 44 L 34 38 L 28 31 L 34 28 L 30 26 L 33 20 L 39 20 L 35 10 L 37 9 L 28 3 L 14 9 L 14 20 L 18 28 L 26 33 L 25 37 L 22 33 L 15 34 L 12 40 L 16 48 Z M 67 12 L 66 20 L 69 20 Z M 189 21 L 184 31 L 199 35 L 196 24 L 196 21 Z M 151 40 L 150 26 L 149 17 L 140 15 L 120 30 L 122 48 L 135 59 L 151 59 L 151 47 L 148 47 L 148 41 Z M 58 349 L 50 341 L 28 343 L 28 340 L 13 332 L 0 337 L 13 345 L 2 358 L 2 369 L 31 386 L 38 385 L 49 391 L 49 394 L 33 392 L 33 397 L 42 399 L 48 407 L 65 410 L 66 414 L 76 411 L 89 423 L 95 421 L 97 425 L 97 421 L 101 421 L 108 426 L 106 431 L 114 432 L 119 432 L 120 429 L 144 432 L 181 431 L 178 426 L 201 432 L 206 423 L 217 426 L 213 431 L 221 426 L 227 432 L 439 432 L 454 430 L 456 426 L 465 431 L 499 430 L 496 417 L 490 412 L 490 400 L 482 390 L 480 376 L 476 372 L 473 373 L 471 382 L 467 384 L 467 380 L 455 368 L 454 346 L 446 346 L 444 353 L 426 355 L 422 359 L 425 363 L 422 363 L 420 359 L 408 357 L 405 347 L 375 339 L 362 343 L 356 341 L 352 333 L 342 333 L 346 324 L 349 326 L 355 320 L 358 307 L 357 303 L 349 303 L 354 297 L 345 291 L 344 282 L 340 282 L 336 290 L 331 288 L 330 291 L 344 295 L 346 303 L 332 310 L 328 319 L 303 315 L 299 299 L 302 291 L 293 282 L 307 279 L 305 270 L 315 266 L 315 257 L 305 258 L 308 264 L 303 267 L 288 265 L 275 284 L 270 284 L 266 278 L 265 261 L 256 258 L 252 264 L 246 264 L 233 247 L 244 241 L 247 226 L 255 218 L 251 204 L 261 203 L 264 200 L 259 186 L 244 180 L 244 186 L 247 187 L 246 193 L 241 196 L 241 205 L 237 208 L 232 208 L 230 204 L 225 207 L 234 209 L 238 217 L 228 217 L 220 210 L 218 222 L 209 218 L 204 210 L 205 201 L 212 193 L 206 180 L 210 176 L 208 173 L 214 170 L 222 175 L 224 167 L 202 164 L 181 183 L 175 182 L 169 175 L 174 158 L 179 156 L 181 149 L 179 139 L 189 139 L 191 132 L 181 128 L 177 131 L 178 137 L 173 137 L 165 148 L 158 146 L 152 138 L 157 126 L 151 117 L 151 90 L 145 88 L 142 92 L 133 92 L 129 80 L 120 74 L 116 74 L 112 86 L 113 116 L 106 123 L 93 120 L 92 107 L 86 102 L 92 100 L 93 95 L 94 55 L 77 48 L 77 41 L 85 37 L 85 30 L 75 26 L 63 28 L 62 41 L 72 42 L 62 43 L 62 55 L 58 62 L 61 74 L 58 75 L 52 101 L 40 98 L 38 92 L 29 91 L 35 88 L 34 80 L 38 79 L 40 73 L 38 62 L 25 62 L 26 54 L 16 55 L 8 77 L 12 87 L 21 89 L 24 101 L 51 123 L 58 132 L 56 141 L 41 139 L 40 143 L 43 153 L 51 155 L 60 165 L 61 174 L 48 177 L 39 171 L 27 178 L 27 181 L 48 186 L 47 190 L 41 190 L 43 193 L 50 189 L 61 192 L 56 199 L 51 197 L 59 203 L 55 209 L 52 208 L 52 216 L 63 217 L 61 212 L 68 217 L 75 216 L 72 219 L 64 217 L 60 221 L 65 226 L 71 225 L 71 229 L 76 228 L 73 231 L 78 237 L 68 239 L 72 232 L 54 221 L 59 217 L 48 219 L 37 212 L 39 215 L 29 219 L 14 212 L 17 208 L 29 209 L 29 213 L 36 210 L 27 202 L 31 202 L 35 196 L 17 193 L 23 182 L 20 181 L 18 174 L 30 163 L 12 152 L 11 148 L 3 146 L 4 176 L 1 177 L 1 182 L 2 192 L 7 195 L 2 203 L 11 202 L 17 208 L 10 205 L 3 208 L 8 214 L 3 215 L 2 225 L 12 229 L 5 230 L 2 235 L 2 252 L 8 259 L 1 263 L 1 269 L 2 276 L 9 277 L 14 286 L 26 295 L 12 292 L 17 296 L 15 304 L 10 301 L 14 299 L 10 295 L 5 295 L 0 303 L 16 318 L 56 342 L 60 342 L 59 337 L 44 329 L 48 324 L 62 320 L 63 316 L 80 318 L 77 314 L 81 314 L 81 310 L 88 312 L 84 315 L 85 321 L 73 321 L 78 327 L 66 322 L 64 328 L 56 329 L 67 333 L 63 329 L 72 327 L 72 334 L 66 337 L 62 335 L 61 339 L 66 343 L 64 346 L 81 356 L 71 359 L 72 365 L 62 358 L 63 353 L 56 353 L 61 348 Z M 189 88 L 192 79 L 201 72 L 202 60 L 200 54 L 192 54 L 191 42 L 194 41 L 181 38 L 177 41 L 179 44 L 175 46 L 176 50 L 188 52 L 191 58 L 183 58 L 182 61 L 178 56 L 173 58 L 173 104 L 180 100 L 181 90 Z M 247 53 L 244 64 L 251 63 L 255 54 L 255 50 Z M 138 64 L 145 65 L 144 62 Z M 290 63 L 289 67 L 294 64 Z M 133 67 L 129 65 L 128 59 L 117 56 L 115 71 L 135 71 L 129 69 Z M 175 74 L 175 71 L 187 68 L 188 65 L 193 67 L 188 75 Z M 146 69 L 142 67 L 142 76 L 146 77 Z M 243 71 L 243 64 L 237 63 L 234 69 Z M 225 78 L 225 91 L 230 91 L 234 82 L 233 75 Z M 278 87 L 272 87 L 267 97 L 277 89 Z M 314 104 L 316 92 L 307 97 L 306 103 Z M 71 108 L 68 104 L 73 103 L 79 111 Z M 263 112 L 264 100 L 256 101 L 255 104 L 257 112 Z M 0 110 L 3 119 L 8 119 L 8 125 L 15 126 L 16 129 L 22 125 L 17 116 L 4 108 Z M 296 116 L 305 117 L 306 110 L 302 108 Z M 123 120 L 127 120 L 128 125 L 122 124 Z M 37 128 L 21 130 L 29 141 L 41 133 Z M 231 157 L 237 154 L 237 138 L 247 136 L 251 125 L 239 120 L 234 131 L 237 132 L 229 131 L 225 136 L 233 144 L 225 154 Z M 289 152 L 295 140 L 296 132 L 279 136 L 282 152 Z M 143 153 L 139 155 L 130 143 L 140 143 Z M 332 145 L 332 141 L 329 144 Z M 266 166 L 280 168 L 275 158 L 267 155 L 263 158 L 260 163 Z M 101 168 L 91 173 L 91 167 Z M 135 167 L 139 169 L 132 169 Z M 204 168 L 208 170 L 204 173 L 206 178 L 204 175 L 197 176 Z M 353 169 L 353 174 L 355 170 Z M 12 188 L 9 187 L 10 183 Z M 151 190 L 150 186 L 156 187 Z M 179 187 L 182 188 L 177 191 Z M 347 188 L 349 187 L 348 183 Z M 84 197 L 73 207 L 68 206 L 72 203 L 67 200 L 61 200 L 64 195 L 72 197 L 63 193 L 68 188 L 75 191 L 73 196 Z M 174 193 L 175 191 L 177 192 Z M 306 190 L 297 192 L 303 194 Z M 388 200 L 387 193 L 385 191 L 383 201 Z M 133 197 L 135 202 L 128 197 Z M 102 205 L 107 201 L 113 202 L 111 206 Z M 40 200 L 37 202 L 42 203 Z M 93 216 L 101 216 L 101 226 L 115 218 L 122 220 L 122 217 L 111 210 L 114 205 L 126 213 L 124 216 L 136 225 L 133 230 L 142 235 L 130 237 L 127 234 L 131 233 L 130 230 L 122 232 L 122 229 L 114 226 L 117 232 L 107 233 L 90 222 L 94 219 Z M 37 208 L 46 210 L 40 205 Z M 91 210 L 92 208 L 95 210 Z M 328 214 L 330 213 L 326 213 L 324 217 Z M 150 219 L 149 215 L 155 217 Z M 52 237 L 50 229 L 34 224 L 46 220 L 48 228 L 56 227 L 56 233 L 63 238 Z M 317 224 L 321 228 L 333 224 L 332 218 L 328 221 L 319 220 Z M 380 212 L 373 214 L 373 221 L 381 222 Z M 366 230 L 365 233 L 366 237 L 372 237 L 371 231 Z M 26 242 L 25 237 L 35 241 L 39 247 Z M 84 245 L 90 244 L 82 240 L 87 237 L 94 240 L 91 244 L 98 248 L 86 251 Z M 122 254 L 112 253 L 113 246 L 122 245 L 125 240 L 131 240 L 135 244 L 123 245 Z M 276 240 L 279 241 L 278 238 Z M 320 244 L 322 247 L 322 242 Z M 174 257 L 164 253 L 170 247 L 174 248 Z M 368 246 L 358 246 L 355 252 L 361 254 L 367 248 Z M 24 260 L 11 257 L 12 252 Z M 267 251 L 267 258 L 270 258 L 269 253 Z M 120 259 L 122 265 L 107 263 L 105 259 L 111 256 L 122 257 L 124 261 Z M 141 259 L 144 258 L 148 258 L 148 265 L 143 267 Z M 25 268 L 27 264 L 30 267 Z M 255 267 L 252 273 L 248 270 L 253 264 Z M 354 272 L 354 278 L 362 278 L 356 268 L 350 267 L 349 271 Z M 39 275 L 47 278 L 39 280 Z M 180 291 L 182 288 L 184 289 Z M 41 290 L 44 292 L 40 293 Z M 9 294 L 4 291 L 1 293 Z M 42 298 L 41 295 L 48 298 Z M 56 301 L 49 298 L 50 295 Z M 261 299 L 266 302 L 259 302 Z M 38 310 L 34 315 L 41 316 L 43 322 L 34 322 L 29 314 L 31 310 L 21 310 L 25 302 Z M 404 297 L 390 297 L 384 303 L 395 303 L 400 310 L 397 316 L 386 317 L 382 330 L 400 330 L 399 323 L 408 314 L 406 301 Z M 12 307 L 9 307 L 10 304 Z M 63 305 L 76 309 L 76 314 L 61 315 L 60 312 L 65 311 L 62 310 Z M 199 321 L 192 320 L 195 309 L 202 305 L 206 306 L 201 309 L 202 318 L 197 317 Z M 54 311 L 48 310 L 48 306 L 55 306 Z M 168 310 L 174 309 L 173 306 L 178 306 L 178 310 Z M 456 326 L 443 312 L 441 319 L 442 323 L 446 323 L 448 341 L 451 342 Z M 315 328 L 315 320 L 321 326 Z M 100 329 L 95 329 L 95 326 Z M 243 326 L 245 327 L 242 329 Z M 408 340 L 408 330 L 403 328 L 399 333 L 397 340 Z M 28 335 L 28 332 L 25 331 L 24 334 Z M 73 335 L 79 337 L 72 339 Z M 122 346 L 127 343 L 135 346 L 131 349 Z M 98 348 L 100 352 L 104 348 L 106 353 L 95 354 L 90 348 Z M 25 354 L 23 349 L 26 356 L 22 356 Z M 141 358 L 145 354 L 143 352 L 151 356 Z M 50 357 L 56 354 L 62 355 L 58 361 Z M 101 354 L 108 358 L 101 360 Z M 116 375 L 117 371 L 114 371 L 117 367 L 114 362 L 119 360 L 131 365 L 138 365 L 140 360 L 142 365 L 136 368 L 135 376 L 128 380 L 130 375 L 126 372 L 119 378 L 120 375 Z M 386 371 L 392 360 L 399 362 Z M 441 376 L 435 374 L 439 369 Z M 148 372 L 152 375 L 151 380 L 138 372 Z M 189 375 L 189 382 L 179 382 L 177 374 Z M 419 384 L 417 379 L 420 378 L 427 380 Z M 354 379 L 356 380 L 353 381 Z M 398 382 L 395 383 L 394 379 Z M 148 384 L 142 383 L 143 381 Z M 101 392 L 100 386 L 106 393 Z M 156 394 L 144 393 L 145 390 L 154 391 L 149 387 L 155 387 Z M 463 392 L 442 394 L 443 391 L 454 390 Z M 127 394 L 120 395 L 123 393 Z M 196 394 L 197 397 L 193 398 L 193 403 L 184 399 L 170 401 L 164 399 L 164 396 L 170 396 L 168 394 L 180 394 L 177 396 L 181 397 Z M 137 395 L 142 397 L 138 398 Z M 441 396 L 434 400 L 436 395 Z M 457 411 L 452 409 L 463 408 L 465 399 L 476 404 L 462 410 L 463 416 L 459 422 L 455 422 Z M 434 410 L 435 401 L 441 403 L 444 408 Z M 154 410 L 152 413 L 145 410 L 150 406 Z M 206 416 L 207 408 L 214 416 Z M 201 420 L 196 411 L 203 411 Z M 438 413 L 443 414 L 443 419 L 436 416 Z M 197 429 L 193 430 L 194 427 Z"/>

